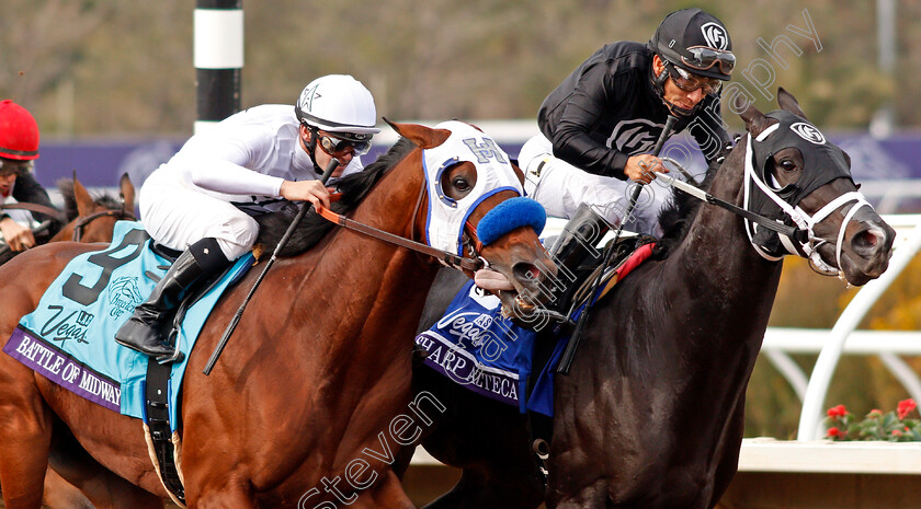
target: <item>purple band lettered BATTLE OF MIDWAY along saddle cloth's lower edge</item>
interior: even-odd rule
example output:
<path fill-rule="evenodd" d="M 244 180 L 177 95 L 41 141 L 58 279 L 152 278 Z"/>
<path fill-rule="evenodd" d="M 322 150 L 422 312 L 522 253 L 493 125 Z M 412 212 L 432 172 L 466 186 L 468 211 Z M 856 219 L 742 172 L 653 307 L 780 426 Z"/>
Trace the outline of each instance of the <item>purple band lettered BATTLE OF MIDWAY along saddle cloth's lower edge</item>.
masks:
<path fill-rule="evenodd" d="M 3 351 L 68 391 L 111 410 L 121 412 L 122 386 L 118 382 L 75 360 L 37 334 L 18 326 Z"/>

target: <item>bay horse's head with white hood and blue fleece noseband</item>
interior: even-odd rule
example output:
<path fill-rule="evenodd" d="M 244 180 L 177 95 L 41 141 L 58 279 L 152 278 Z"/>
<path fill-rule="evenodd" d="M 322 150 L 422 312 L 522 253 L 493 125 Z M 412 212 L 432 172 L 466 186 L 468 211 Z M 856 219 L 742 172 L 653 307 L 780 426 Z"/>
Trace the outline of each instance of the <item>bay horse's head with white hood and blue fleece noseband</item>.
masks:
<path fill-rule="evenodd" d="M 503 309 L 526 315 L 546 297 L 541 288 L 557 268 L 537 239 L 546 213 L 523 197 L 521 170 L 469 124 L 390 125 L 423 151 L 428 193 L 421 197 L 413 234 L 501 273 L 514 287 L 499 292 Z"/>

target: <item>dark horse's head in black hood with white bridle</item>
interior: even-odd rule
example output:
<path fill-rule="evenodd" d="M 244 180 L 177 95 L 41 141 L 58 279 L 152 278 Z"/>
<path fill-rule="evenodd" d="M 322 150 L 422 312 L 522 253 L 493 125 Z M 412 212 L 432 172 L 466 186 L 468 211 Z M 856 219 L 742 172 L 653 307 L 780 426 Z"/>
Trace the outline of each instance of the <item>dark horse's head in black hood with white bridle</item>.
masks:
<path fill-rule="evenodd" d="M 746 150 L 746 208 L 799 228 L 792 239 L 746 228 L 768 259 L 797 254 L 820 274 L 861 286 L 888 267 L 896 233 L 857 190 L 851 159 L 806 119 L 796 99 L 777 93 L 781 109 L 766 115 L 737 97 L 749 131 Z"/>

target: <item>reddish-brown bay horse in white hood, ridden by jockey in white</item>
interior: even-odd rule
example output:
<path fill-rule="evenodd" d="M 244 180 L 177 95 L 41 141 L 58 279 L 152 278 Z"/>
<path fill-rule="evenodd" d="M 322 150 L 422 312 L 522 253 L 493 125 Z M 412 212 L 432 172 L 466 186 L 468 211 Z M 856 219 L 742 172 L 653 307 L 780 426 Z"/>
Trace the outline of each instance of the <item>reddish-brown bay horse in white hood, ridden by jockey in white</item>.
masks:
<path fill-rule="evenodd" d="M 423 149 L 441 146 L 451 131 L 395 128 L 405 138 L 343 180 L 337 205 L 354 207 L 355 221 L 425 239 L 427 203 L 435 198 L 423 193 Z M 461 200 L 484 177 L 468 159 L 440 174 L 447 198 Z M 514 196 L 501 190 L 477 203 L 466 236 L 475 241 L 487 212 Z M 0 267 L 0 336 L 35 309 L 68 261 L 88 251 L 48 244 Z M 537 267 L 554 267 L 530 227 L 505 231 L 478 255 L 521 294 L 537 294 L 545 278 Z M 441 407 L 432 398 L 410 400 L 411 334 L 436 269 L 430 258 L 348 230 L 323 235 L 309 251 L 278 259 L 205 377 L 209 352 L 258 275 L 230 289 L 211 313 L 184 380 L 180 465 L 189 506 L 412 507 L 391 464 Z M 137 419 L 77 397 L 5 356 L 0 402 L 7 423 L 0 482 L 9 509 L 41 505 L 49 460 L 98 507 L 161 507 L 168 494 Z"/>

